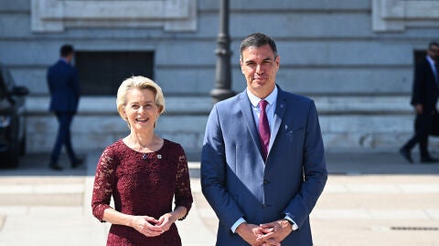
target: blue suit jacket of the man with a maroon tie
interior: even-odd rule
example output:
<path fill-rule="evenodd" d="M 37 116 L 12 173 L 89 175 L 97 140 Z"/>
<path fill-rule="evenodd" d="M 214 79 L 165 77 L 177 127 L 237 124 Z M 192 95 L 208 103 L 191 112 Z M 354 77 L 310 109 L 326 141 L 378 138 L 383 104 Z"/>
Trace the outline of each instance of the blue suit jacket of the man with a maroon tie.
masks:
<path fill-rule="evenodd" d="M 266 163 L 246 91 L 211 110 L 201 154 L 202 191 L 219 217 L 217 245 L 248 245 L 230 231 L 283 219 L 299 226 L 282 245 L 312 245 L 309 213 L 327 181 L 314 102 L 279 88 Z"/>

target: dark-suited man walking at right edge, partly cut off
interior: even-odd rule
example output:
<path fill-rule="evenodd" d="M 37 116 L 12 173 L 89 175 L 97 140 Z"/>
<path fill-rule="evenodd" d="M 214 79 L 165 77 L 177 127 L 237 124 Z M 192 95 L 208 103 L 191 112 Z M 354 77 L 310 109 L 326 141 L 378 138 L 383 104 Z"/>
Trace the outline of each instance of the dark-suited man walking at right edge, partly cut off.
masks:
<path fill-rule="evenodd" d="M 410 163 L 413 163 L 412 148 L 419 143 L 421 163 L 434 163 L 437 159 L 431 157 L 428 151 L 428 134 L 433 127 L 433 117 L 437 114 L 436 103 L 439 96 L 438 83 L 439 43 L 431 42 L 427 56 L 414 69 L 412 90 L 412 106 L 416 112 L 414 121 L 414 136 L 402 146 L 400 153 Z"/>

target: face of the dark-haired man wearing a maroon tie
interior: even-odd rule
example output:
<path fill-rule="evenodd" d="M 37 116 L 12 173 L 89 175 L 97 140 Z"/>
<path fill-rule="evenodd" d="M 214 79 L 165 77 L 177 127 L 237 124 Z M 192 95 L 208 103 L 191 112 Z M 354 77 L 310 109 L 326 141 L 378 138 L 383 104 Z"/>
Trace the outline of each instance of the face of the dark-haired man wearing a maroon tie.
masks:
<path fill-rule="evenodd" d="M 241 71 L 253 95 L 265 98 L 273 91 L 279 61 L 269 45 L 250 46 L 242 51 Z"/>

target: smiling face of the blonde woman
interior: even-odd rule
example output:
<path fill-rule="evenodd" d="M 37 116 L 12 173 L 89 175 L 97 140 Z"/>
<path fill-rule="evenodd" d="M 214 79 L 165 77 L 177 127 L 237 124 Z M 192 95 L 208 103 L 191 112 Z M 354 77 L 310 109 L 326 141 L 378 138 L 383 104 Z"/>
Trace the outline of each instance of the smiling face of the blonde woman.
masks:
<path fill-rule="evenodd" d="M 155 93 L 147 88 L 130 90 L 126 94 L 126 105 L 123 111 L 132 130 L 154 129 L 155 121 L 159 116 L 159 108 L 155 104 Z"/>

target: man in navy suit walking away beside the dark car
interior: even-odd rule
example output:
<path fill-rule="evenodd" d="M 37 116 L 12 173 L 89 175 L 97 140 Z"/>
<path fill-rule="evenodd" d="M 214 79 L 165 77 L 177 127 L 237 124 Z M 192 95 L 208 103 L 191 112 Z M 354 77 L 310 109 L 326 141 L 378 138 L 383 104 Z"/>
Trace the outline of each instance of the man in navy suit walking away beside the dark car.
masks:
<path fill-rule="evenodd" d="M 72 168 L 77 168 L 82 159 L 77 158 L 71 146 L 70 124 L 78 109 L 80 83 L 78 72 L 71 65 L 74 56 L 73 46 L 61 46 L 60 59 L 48 68 L 48 90 L 50 92 L 49 110 L 54 112 L 59 121 L 58 137 L 50 157 L 50 169 L 62 170 L 58 164 L 61 147 L 65 145 Z"/>

